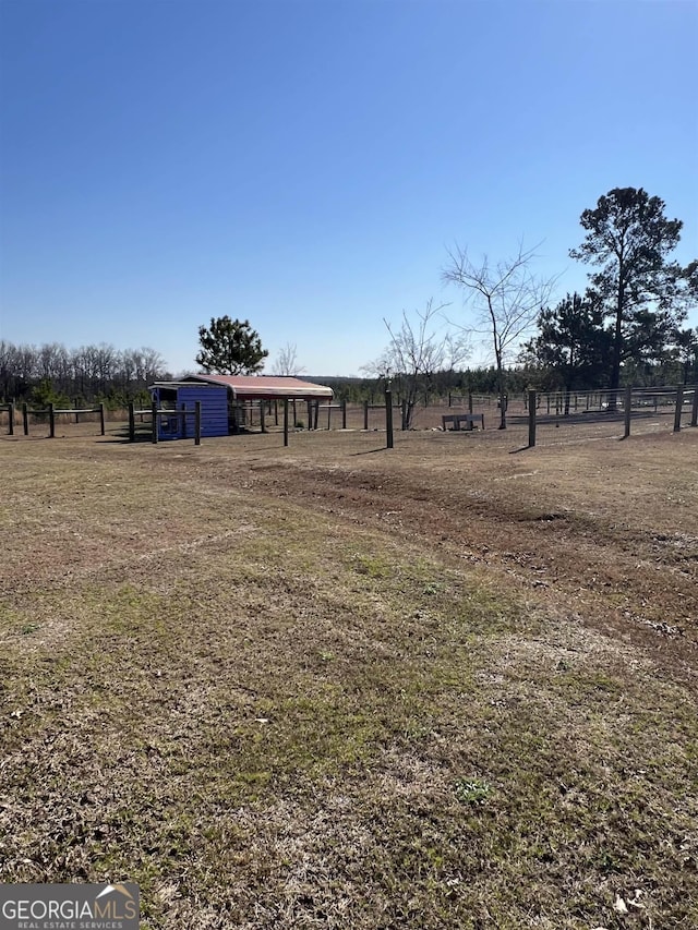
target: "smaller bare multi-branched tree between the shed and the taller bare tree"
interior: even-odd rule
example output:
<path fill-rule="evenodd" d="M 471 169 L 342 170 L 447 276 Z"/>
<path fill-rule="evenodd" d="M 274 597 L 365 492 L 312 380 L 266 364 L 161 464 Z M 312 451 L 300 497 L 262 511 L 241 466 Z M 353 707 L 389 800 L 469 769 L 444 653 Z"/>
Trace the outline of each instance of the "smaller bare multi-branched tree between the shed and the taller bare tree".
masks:
<path fill-rule="evenodd" d="M 434 306 L 430 300 L 423 311 L 414 311 L 413 319 L 402 311 L 399 328 L 384 319 L 390 342 L 378 359 L 362 369 L 385 378 L 386 383 L 396 382 L 404 404 L 404 430 L 412 425 L 420 389 L 428 394 L 436 372 L 453 371 L 468 355 L 468 338 L 464 331 L 457 336 L 449 330 L 443 331 L 446 321 L 442 311 L 447 305 Z"/>

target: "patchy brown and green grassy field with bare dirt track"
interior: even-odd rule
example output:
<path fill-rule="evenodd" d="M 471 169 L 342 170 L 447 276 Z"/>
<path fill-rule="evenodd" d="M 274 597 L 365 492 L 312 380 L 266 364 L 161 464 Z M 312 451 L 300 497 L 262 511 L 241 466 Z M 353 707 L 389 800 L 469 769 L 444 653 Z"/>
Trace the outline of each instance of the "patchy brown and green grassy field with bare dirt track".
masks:
<path fill-rule="evenodd" d="M 698 431 L 5 438 L 0 881 L 698 927 Z"/>

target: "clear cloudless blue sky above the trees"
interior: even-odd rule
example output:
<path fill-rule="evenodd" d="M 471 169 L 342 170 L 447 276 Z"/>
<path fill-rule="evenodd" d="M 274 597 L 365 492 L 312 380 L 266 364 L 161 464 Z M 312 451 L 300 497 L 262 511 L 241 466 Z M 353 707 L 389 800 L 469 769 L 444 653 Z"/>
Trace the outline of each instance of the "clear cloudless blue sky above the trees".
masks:
<path fill-rule="evenodd" d="M 583 288 L 567 253 L 615 186 L 698 255 L 693 0 L 0 0 L 0 338 L 179 372 L 227 313 L 267 371 L 292 342 L 358 374 L 383 317 L 468 325 L 456 242 L 543 241 Z"/>

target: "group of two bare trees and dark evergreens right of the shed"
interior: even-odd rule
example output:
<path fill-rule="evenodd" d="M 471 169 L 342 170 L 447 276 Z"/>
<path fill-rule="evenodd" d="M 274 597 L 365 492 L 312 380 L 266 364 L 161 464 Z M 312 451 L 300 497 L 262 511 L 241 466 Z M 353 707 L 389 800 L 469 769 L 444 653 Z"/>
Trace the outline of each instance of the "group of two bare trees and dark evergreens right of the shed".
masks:
<path fill-rule="evenodd" d="M 505 396 L 521 372 L 531 387 L 607 389 L 610 409 L 623 384 L 698 382 L 698 327 L 684 325 L 698 304 L 698 261 L 682 267 L 672 258 L 683 222 L 642 188 L 614 188 L 580 224 L 583 241 L 569 255 L 590 267 L 583 294 L 551 305 L 557 278 L 534 274 L 535 247 L 521 243 L 512 257 L 473 261 L 456 245 L 442 278 L 458 288 L 464 310 L 434 314 L 430 302 L 404 313 L 399 327 L 385 322 L 388 346 L 366 373 L 397 384 L 412 403 L 435 384 L 435 363 L 453 358 L 450 346 L 458 342 L 462 359 L 464 338 L 483 339 L 494 359 L 501 428 Z"/>

